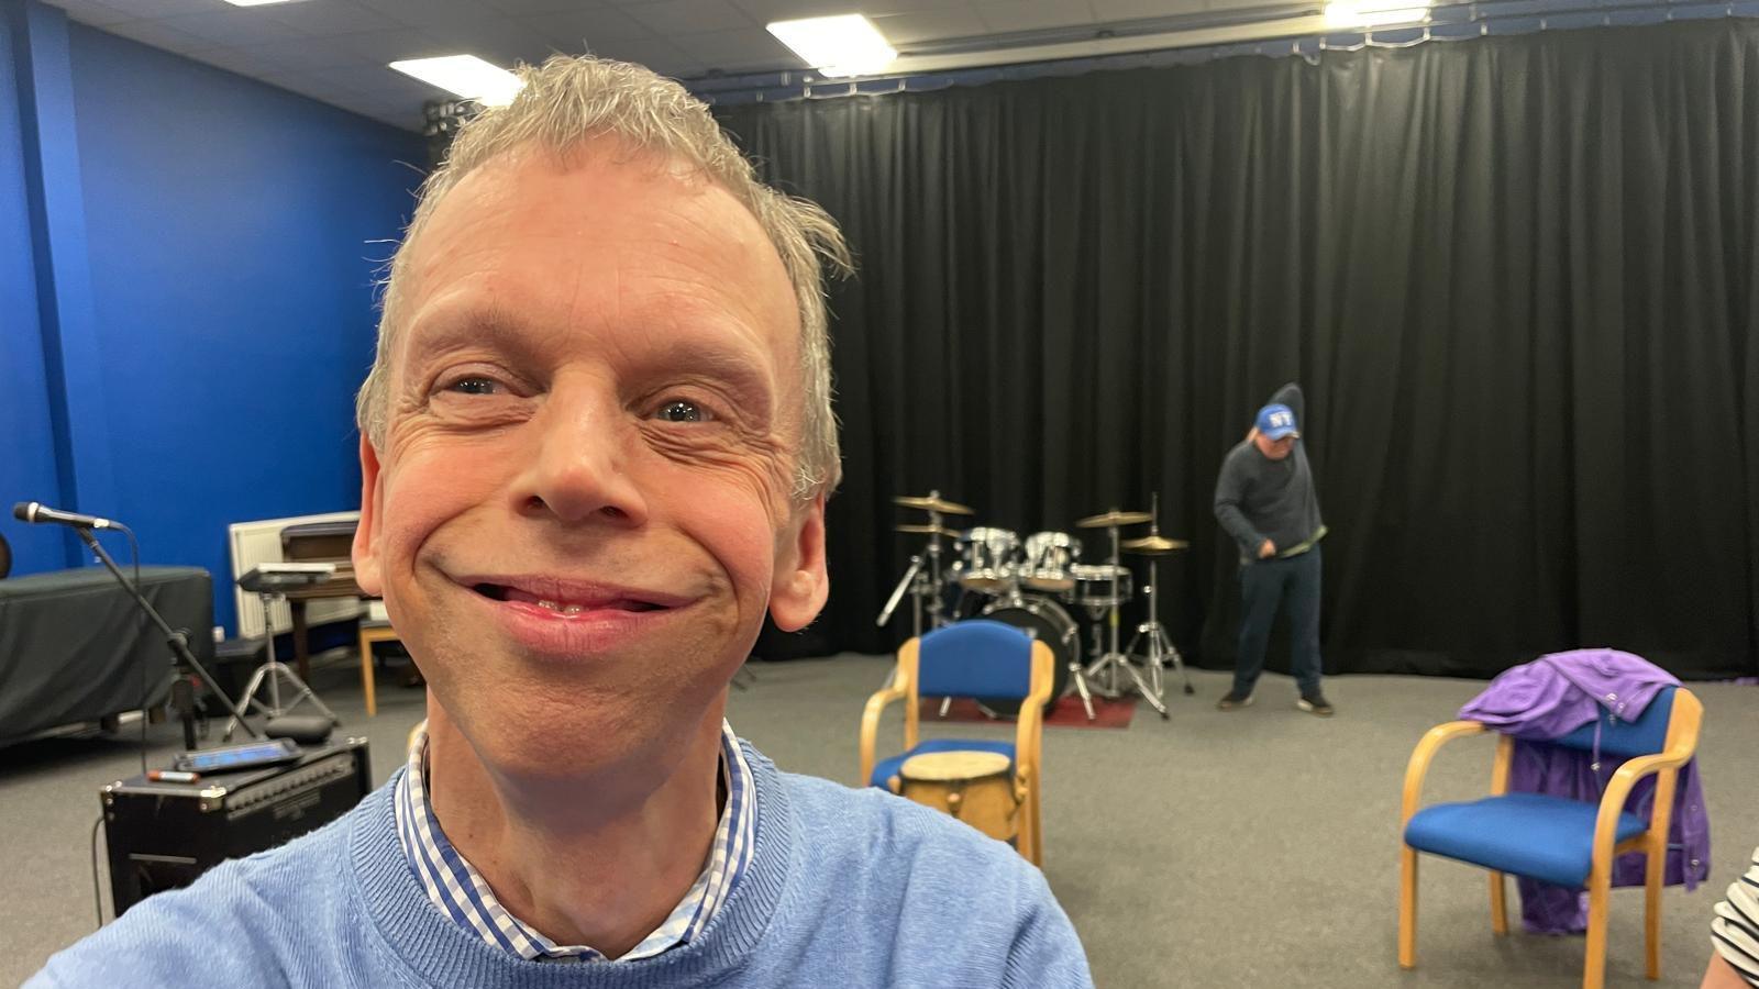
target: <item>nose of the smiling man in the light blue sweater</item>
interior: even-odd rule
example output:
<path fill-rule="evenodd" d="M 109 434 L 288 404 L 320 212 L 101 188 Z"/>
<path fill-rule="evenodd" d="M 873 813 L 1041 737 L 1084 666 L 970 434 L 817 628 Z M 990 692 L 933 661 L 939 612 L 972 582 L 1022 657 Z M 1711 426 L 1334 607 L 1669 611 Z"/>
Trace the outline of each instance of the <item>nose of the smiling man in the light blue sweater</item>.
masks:
<path fill-rule="evenodd" d="M 630 475 L 639 431 L 612 389 L 593 380 L 558 380 L 528 422 L 535 440 L 521 473 L 528 512 L 565 523 L 593 517 L 647 521 L 647 503 Z"/>

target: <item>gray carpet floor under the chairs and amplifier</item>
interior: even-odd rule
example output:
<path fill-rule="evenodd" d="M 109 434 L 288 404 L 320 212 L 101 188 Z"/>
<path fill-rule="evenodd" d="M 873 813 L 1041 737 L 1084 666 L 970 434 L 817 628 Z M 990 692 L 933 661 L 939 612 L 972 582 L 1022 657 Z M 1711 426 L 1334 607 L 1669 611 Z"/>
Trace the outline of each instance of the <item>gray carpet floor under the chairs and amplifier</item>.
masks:
<path fill-rule="evenodd" d="M 730 720 L 783 767 L 853 785 L 860 707 L 888 663 L 756 663 L 756 683 L 734 692 Z M 343 730 L 371 739 L 373 773 L 385 780 L 422 716 L 422 693 L 382 676 L 378 716 L 368 720 L 355 670 L 343 660 L 313 679 Z M 1580 938 L 1492 936 L 1483 873 L 1435 859 L 1423 861 L 1420 964 L 1400 971 L 1395 961 L 1405 760 L 1423 730 L 1449 720 L 1481 683 L 1337 678 L 1326 688 L 1339 706 L 1332 720 L 1295 711 L 1286 678 L 1266 678 L 1258 704 L 1226 714 L 1214 709 L 1226 679 L 1198 672 L 1196 685 L 1196 697 L 1170 693 L 1170 722 L 1140 707 L 1128 730 L 1050 729 L 1045 737 L 1045 875 L 1099 985 L 1580 985 Z M 1706 707 L 1699 757 L 1715 862 L 1708 887 L 1666 892 L 1659 985 L 1697 985 L 1710 908 L 1759 843 L 1759 688 L 1692 686 Z M 899 739 L 901 718 L 885 730 L 883 739 Z M 155 725 L 148 739 L 153 764 L 179 748 L 176 725 Z M 1486 739 L 1453 743 L 1425 799 L 1481 795 L 1490 751 Z M 23 980 L 93 929 L 97 790 L 135 771 L 132 729 L 0 750 L 9 859 L 0 984 Z M 1609 985 L 1657 985 L 1643 980 L 1641 919 L 1641 894 L 1615 890 Z"/>

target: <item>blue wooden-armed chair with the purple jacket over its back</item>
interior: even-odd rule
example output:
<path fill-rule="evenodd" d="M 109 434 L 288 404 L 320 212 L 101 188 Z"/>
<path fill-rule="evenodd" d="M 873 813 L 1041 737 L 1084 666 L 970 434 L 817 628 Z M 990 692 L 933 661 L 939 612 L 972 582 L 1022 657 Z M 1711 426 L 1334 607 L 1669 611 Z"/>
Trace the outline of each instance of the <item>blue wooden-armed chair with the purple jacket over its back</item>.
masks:
<path fill-rule="evenodd" d="M 1666 688 L 1636 722 L 1611 720 L 1602 713 L 1599 723 L 1551 739 L 1551 744 L 1585 751 L 1599 746 L 1602 755 L 1625 760 L 1606 783 L 1599 804 L 1543 794 L 1509 794 L 1514 739 L 1502 736 L 1490 771 L 1490 797 L 1418 810 L 1423 776 L 1435 751 L 1448 741 L 1492 730 L 1479 722 L 1449 722 L 1430 729 L 1405 769 L 1398 964 L 1416 966 L 1418 852 L 1428 852 L 1490 869 L 1490 927 L 1497 934 L 1509 933 L 1504 873 L 1587 887 L 1588 943 L 1581 984 L 1585 989 L 1601 989 L 1606 982 L 1606 912 L 1613 859 L 1625 852 L 1643 852 L 1646 973 L 1660 978 L 1660 887 L 1668 862 L 1668 827 L 1680 767 L 1697 750 L 1703 716 L 1704 706 L 1690 690 Z M 1645 822 L 1625 811 L 1625 801 L 1638 780 L 1652 774 L 1655 801 L 1650 820 Z"/>

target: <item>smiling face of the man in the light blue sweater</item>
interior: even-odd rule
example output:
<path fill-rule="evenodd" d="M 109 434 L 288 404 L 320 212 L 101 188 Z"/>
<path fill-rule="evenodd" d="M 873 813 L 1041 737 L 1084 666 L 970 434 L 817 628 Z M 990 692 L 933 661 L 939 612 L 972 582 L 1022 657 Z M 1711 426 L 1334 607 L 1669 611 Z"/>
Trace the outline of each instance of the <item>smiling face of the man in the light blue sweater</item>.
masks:
<path fill-rule="evenodd" d="M 827 593 L 781 259 L 728 192 L 609 141 L 491 160 L 406 250 L 361 586 L 496 769 L 695 732 L 765 611 L 797 628 Z"/>

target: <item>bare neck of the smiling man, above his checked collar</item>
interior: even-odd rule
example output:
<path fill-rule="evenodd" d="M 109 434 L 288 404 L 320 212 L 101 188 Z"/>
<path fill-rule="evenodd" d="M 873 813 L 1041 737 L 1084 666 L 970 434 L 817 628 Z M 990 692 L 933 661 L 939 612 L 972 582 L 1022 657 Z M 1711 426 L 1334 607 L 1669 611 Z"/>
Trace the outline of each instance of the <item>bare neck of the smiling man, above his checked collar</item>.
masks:
<path fill-rule="evenodd" d="M 429 702 L 434 817 L 514 917 L 558 945 L 619 957 L 665 922 L 709 857 L 723 704 L 712 707 L 682 753 L 640 760 L 644 778 L 528 788 L 491 774 Z"/>

